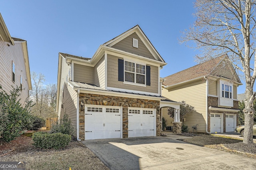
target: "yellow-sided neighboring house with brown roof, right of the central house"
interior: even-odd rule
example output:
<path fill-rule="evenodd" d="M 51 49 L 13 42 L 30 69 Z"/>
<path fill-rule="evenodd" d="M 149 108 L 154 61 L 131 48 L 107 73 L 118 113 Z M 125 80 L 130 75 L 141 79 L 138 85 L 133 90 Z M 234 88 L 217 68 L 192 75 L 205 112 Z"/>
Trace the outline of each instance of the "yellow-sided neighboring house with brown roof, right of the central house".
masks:
<path fill-rule="evenodd" d="M 228 61 L 225 54 L 164 78 L 164 97 L 195 108 L 184 121 L 190 131 L 233 132 L 238 124 L 237 88 L 242 84 Z M 167 112 L 163 110 L 168 129 L 173 119 Z"/>

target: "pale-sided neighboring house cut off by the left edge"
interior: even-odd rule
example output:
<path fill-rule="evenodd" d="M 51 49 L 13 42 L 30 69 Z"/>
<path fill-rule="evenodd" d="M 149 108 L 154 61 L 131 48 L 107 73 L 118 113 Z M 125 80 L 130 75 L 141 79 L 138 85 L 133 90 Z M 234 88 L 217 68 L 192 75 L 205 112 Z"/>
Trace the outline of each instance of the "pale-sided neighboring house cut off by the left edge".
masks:
<path fill-rule="evenodd" d="M 27 42 L 10 36 L 0 14 L 0 86 L 6 92 L 21 89 L 20 103 L 24 104 L 32 89 Z"/>

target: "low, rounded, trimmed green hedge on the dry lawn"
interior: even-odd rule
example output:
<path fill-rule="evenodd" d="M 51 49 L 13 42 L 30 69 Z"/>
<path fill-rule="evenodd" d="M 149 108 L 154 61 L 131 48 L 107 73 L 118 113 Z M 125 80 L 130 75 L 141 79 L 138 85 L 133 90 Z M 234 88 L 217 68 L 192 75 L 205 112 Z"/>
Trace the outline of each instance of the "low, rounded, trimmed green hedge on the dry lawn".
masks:
<path fill-rule="evenodd" d="M 34 146 L 40 149 L 60 149 L 68 146 L 71 141 L 71 135 L 62 133 L 36 132 L 32 139 Z"/>

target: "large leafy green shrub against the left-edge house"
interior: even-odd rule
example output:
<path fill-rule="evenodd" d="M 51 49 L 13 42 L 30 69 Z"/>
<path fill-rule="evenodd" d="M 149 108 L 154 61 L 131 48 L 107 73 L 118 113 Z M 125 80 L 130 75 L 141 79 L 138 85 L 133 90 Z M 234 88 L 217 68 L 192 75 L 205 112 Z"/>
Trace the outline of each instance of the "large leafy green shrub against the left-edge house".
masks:
<path fill-rule="evenodd" d="M 10 93 L 2 90 L 0 86 L 0 136 L 9 142 L 19 137 L 23 129 L 31 127 L 31 101 L 20 103 L 20 88 L 13 88 Z"/>

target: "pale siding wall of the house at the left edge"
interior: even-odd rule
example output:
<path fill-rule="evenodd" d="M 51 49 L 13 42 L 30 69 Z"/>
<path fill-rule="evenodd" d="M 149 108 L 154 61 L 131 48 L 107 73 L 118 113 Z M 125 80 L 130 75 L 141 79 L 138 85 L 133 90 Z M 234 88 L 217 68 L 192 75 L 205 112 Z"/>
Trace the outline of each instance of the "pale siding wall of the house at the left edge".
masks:
<path fill-rule="evenodd" d="M 10 45 L 4 41 L 0 41 L 0 85 L 3 90 L 10 92 L 13 87 L 20 87 L 20 76 L 22 77 L 22 92 L 20 95 L 20 103 L 24 104 L 29 96 L 28 77 L 26 74 L 26 65 L 24 51 L 21 42 L 15 42 Z M 15 82 L 12 81 L 12 61 L 15 64 Z M 30 78 L 30 77 L 29 77 Z"/>

